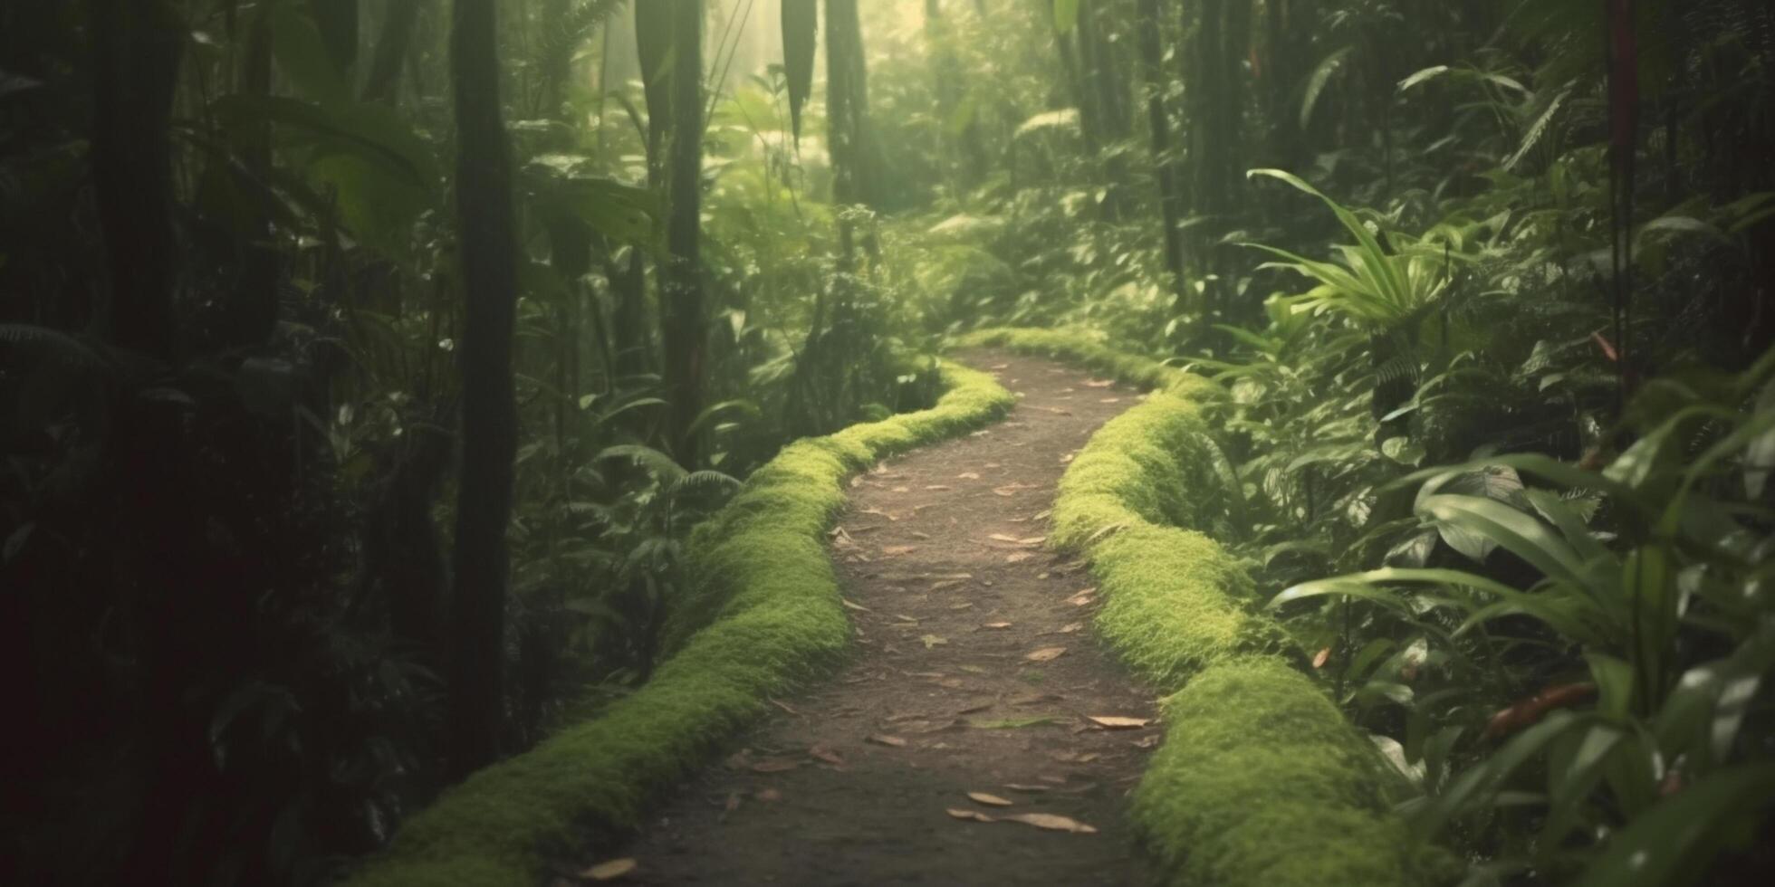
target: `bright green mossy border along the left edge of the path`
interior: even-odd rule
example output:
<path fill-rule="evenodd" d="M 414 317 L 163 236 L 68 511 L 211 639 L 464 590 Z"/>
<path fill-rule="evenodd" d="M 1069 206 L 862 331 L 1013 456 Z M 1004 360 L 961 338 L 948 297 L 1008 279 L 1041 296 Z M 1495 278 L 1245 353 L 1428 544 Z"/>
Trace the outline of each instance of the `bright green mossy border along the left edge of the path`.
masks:
<path fill-rule="evenodd" d="M 353 887 L 531 887 L 550 853 L 639 825 L 648 802 L 754 720 L 765 699 L 836 663 L 848 621 L 822 534 L 843 481 L 911 447 L 974 429 L 1015 399 L 943 367 L 930 410 L 792 444 L 753 472 L 687 546 L 694 594 L 674 653 L 598 717 L 493 765 L 415 814 Z"/>

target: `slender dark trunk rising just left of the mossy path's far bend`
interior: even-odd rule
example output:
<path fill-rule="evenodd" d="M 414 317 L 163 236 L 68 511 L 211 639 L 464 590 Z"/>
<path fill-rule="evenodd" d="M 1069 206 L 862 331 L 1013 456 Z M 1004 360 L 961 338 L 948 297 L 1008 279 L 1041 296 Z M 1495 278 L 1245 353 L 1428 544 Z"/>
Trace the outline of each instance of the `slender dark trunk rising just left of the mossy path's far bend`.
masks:
<path fill-rule="evenodd" d="M 703 309 L 703 0 L 660 0 L 673 11 L 671 147 L 667 153 L 666 268 L 660 334 L 671 444 L 683 465 L 698 459 L 690 426 L 703 410 L 708 323 Z"/>

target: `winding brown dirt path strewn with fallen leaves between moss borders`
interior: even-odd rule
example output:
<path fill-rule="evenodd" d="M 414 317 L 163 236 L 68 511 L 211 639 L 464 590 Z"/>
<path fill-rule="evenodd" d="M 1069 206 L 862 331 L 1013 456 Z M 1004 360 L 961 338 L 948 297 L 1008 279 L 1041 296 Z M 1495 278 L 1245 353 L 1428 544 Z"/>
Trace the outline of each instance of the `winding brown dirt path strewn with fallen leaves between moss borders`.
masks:
<path fill-rule="evenodd" d="M 964 360 L 1024 399 L 852 483 L 832 557 L 857 655 L 660 811 L 627 852 L 635 883 L 1145 882 L 1122 807 L 1159 729 L 1088 718 L 1152 718 L 1154 701 L 1090 635 L 1083 564 L 1038 539 L 1070 454 L 1138 394 L 1047 360 Z"/>

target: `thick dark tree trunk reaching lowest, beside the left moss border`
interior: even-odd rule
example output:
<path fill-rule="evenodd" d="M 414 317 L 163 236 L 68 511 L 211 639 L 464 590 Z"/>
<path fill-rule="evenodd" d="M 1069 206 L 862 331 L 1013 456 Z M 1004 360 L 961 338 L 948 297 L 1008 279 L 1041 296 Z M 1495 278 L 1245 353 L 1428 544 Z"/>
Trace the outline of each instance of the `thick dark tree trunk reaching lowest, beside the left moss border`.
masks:
<path fill-rule="evenodd" d="M 511 335 L 518 241 L 511 156 L 499 105 L 493 0 L 456 0 L 451 82 L 456 96 L 456 215 L 465 294 L 462 334 L 462 479 L 456 587 L 451 600 L 451 775 L 499 756 L 504 720 L 504 617 L 518 413 Z"/>

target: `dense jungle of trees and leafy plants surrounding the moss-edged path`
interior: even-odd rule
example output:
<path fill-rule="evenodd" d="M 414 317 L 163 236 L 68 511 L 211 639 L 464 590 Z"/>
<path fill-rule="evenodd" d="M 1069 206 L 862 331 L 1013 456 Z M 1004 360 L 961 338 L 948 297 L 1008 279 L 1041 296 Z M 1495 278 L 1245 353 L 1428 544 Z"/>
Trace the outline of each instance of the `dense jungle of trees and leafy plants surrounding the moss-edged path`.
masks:
<path fill-rule="evenodd" d="M 1759 0 L 0 7 L 9 862 L 332 878 L 1014 325 L 1225 389 L 1170 520 L 1470 883 L 1759 882 L 1770 108 Z"/>

